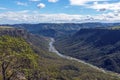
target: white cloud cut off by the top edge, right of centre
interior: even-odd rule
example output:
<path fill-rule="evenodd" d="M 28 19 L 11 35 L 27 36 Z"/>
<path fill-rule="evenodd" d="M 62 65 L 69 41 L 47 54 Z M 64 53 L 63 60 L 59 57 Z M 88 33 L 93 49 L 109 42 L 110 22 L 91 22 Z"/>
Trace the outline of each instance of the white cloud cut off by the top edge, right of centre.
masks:
<path fill-rule="evenodd" d="M 109 1 L 109 0 L 69 0 L 69 1 L 71 5 L 81 6 L 89 2 L 94 2 L 94 1 L 99 2 L 99 1 Z"/>

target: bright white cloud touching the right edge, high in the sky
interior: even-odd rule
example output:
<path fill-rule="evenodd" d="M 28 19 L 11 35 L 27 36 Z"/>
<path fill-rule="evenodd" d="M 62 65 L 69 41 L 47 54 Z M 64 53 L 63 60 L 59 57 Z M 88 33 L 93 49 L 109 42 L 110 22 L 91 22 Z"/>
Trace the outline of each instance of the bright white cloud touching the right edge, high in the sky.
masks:
<path fill-rule="evenodd" d="M 88 6 L 88 8 L 92 8 L 92 9 L 96 9 L 98 11 L 101 10 L 112 10 L 112 11 L 120 11 L 120 2 L 117 3 L 102 3 L 99 4 L 97 2 L 95 2 L 93 5 Z"/>

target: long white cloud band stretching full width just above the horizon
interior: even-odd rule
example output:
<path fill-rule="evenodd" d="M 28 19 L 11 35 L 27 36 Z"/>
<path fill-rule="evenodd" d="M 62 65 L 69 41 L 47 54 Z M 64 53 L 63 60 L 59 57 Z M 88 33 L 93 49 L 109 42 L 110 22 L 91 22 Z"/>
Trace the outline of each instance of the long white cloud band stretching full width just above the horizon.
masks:
<path fill-rule="evenodd" d="M 120 22 L 119 12 L 91 15 L 39 14 L 29 10 L 0 13 L 0 24 Z"/>

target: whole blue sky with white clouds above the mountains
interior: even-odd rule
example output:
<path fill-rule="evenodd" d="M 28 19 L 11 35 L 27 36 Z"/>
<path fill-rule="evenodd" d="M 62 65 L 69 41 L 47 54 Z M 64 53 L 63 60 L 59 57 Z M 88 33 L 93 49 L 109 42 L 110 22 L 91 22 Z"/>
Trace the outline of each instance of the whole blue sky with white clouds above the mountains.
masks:
<path fill-rule="evenodd" d="M 120 22 L 120 0 L 0 0 L 0 24 Z"/>

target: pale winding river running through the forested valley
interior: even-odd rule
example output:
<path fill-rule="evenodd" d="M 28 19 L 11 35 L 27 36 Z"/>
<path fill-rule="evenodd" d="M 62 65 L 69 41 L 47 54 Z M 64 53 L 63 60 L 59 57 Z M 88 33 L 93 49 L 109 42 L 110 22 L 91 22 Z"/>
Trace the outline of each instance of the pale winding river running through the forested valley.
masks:
<path fill-rule="evenodd" d="M 76 59 L 76 58 L 73 58 L 73 57 L 70 57 L 70 56 L 62 55 L 61 53 L 59 53 L 59 51 L 57 51 L 57 50 L 55 49 L 55 47 L 54 47 L 54 45 L 53 45 L 54 42 L 55 42 L 54 38 L 50 38 L 50 42 L 49 42 L 49 51 L 50 51 L 50 52 L 56 53 L 58 56 L 60 56 L 60 57 L 62 57 L 62 58 L 65 58 L 65 59 L 68 59 L 68 60 L 74 60 L 74 61 L 83 63 L 83 64 L 88 65 L 88 66 L 90 66 L 90 67 L 92 67 L 92 68 L 94 68 L 94 69 L 100 70 L 100 71 L 102 71 L 102 72 L 104 72 L 104 73 L 107 72 L 106 70 L 104 70 L 104 69 L 102 69 L 102 68 L 99 68 L 99 67 L 96 67 L 96 66 L 94 66 L 94 65 L 92 65 L 92 64 L 86 63 L 85 61 L 82 61 L 82 60 L 80 60 L 80 59 Z"/>

